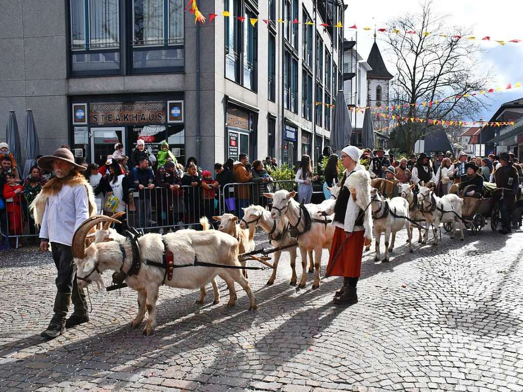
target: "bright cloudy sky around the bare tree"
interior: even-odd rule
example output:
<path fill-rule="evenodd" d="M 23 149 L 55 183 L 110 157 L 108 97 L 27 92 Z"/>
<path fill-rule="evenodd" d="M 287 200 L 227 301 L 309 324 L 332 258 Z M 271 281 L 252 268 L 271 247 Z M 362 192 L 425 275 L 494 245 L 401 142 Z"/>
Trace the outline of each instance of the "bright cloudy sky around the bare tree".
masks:
<path fill-rule="evenodd" d="M 362 2 L 356 0 L 346 0 L 348 8 L 345 11 L 345 38 L 355 39 L 353 29 L 348 26 L 356 25 L 358 28 L 386 27 L 386 22 L 394 17 L 406 15 L 419 10 L 421 7 L 416 0 L 403 2 L 374 0 Z M 490 36 L 491 40 L 511 39 L 523 40 L 523 29 L 521 28 L 523 17 L 523 2 L 514 0 L 493 1 L 471 1 L 471 0 L 438 0 L 433 3 L 433 9 L 439 14 L 449 15 L 448 26 L 464 26 L 470 28 L 473 36 L 483 38 Z M 373 31 L 358 30 L 357 44 L 358 52 L 367 59 L 370 48 L 374 41 Z M 394 67 L 391 59 L 386 53 L 386 43 L 380 40 L 380 33 L 377 36 L 378 46 L 380 47 L 385 65 L 389 72 L 394 75 Z M 493 87 L 506 87 L 517 82 L 523 84 L 523 42 L 507 43 L 502 46 L 497 42 L 477 41 L 478 45 L 485 50 L 481 54 L 479 67 L 494 67 L 495 83 Z M 465 120 L 488 120 L 503 102 L 523 98 L 523 87 L 510 89 L 502 93 L 489 94 L 487 101 L 491 104 L 490 109 L 477 113 L 475 119 Z"/>

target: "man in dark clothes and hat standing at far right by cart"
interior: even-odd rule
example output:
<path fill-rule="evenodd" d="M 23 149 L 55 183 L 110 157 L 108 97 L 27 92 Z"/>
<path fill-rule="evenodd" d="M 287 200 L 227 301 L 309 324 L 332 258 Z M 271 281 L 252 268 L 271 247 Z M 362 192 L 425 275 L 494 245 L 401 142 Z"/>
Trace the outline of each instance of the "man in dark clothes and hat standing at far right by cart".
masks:
<path fill-rule="evenodd" d="M 507 153 L 499 154 L 499 165 L 494 171 L 496 191 L 494 193 L 495 202 L 499 203 L 501 210 L 502 228 L 499 233 L 508 234 L 510 228 L 511 214 L 516 202 L 516 194 L 519 187 L 518 172 L 510 162 L 510 155 Z"/>

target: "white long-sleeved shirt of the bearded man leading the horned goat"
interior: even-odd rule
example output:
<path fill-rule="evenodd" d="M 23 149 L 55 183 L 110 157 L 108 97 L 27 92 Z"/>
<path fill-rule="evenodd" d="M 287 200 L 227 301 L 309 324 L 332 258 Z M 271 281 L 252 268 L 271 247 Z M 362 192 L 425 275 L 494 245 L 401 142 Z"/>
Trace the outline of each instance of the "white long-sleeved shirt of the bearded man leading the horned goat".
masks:
<path fill-rule="evenodd" d="M 64 185 L 46 201 L 40 238 L 71 246 L 76 229 L 89 217 L 87 189 L 83 185 Z"/>

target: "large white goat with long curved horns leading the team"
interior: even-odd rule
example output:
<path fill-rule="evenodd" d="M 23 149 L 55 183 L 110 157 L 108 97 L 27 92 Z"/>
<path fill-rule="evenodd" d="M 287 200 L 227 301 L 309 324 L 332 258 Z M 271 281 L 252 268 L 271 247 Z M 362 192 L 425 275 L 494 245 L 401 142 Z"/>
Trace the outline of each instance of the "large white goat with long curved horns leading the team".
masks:
<path fill-rule="evenodd" d="M 85 287 L 90 282 L 103 285 L 101 274 L 106 270 L 128 272 L 133 263 L 133 247 L 129 239 L 117 235 L 115 241 L 91 244 L 85 248 L 85 237 L 90 228 L 99 222 L 110 220 L 101 217 L 99 220 L 87 221 L 82 224 L 73 237 L 73 256 L 77 267 L 78 286 Z M 113 220 L 114 221 L 114 220 Z M 118 221 L 115 221 L 118 222 Z M 165 279 L 165 270 L 147 264 L 147 261 L 162 263 L 164 243 L 174 255 L 174 273 L 172 280 Z M 120 246 L 124 252 L 121 251 Z M 239 283 L 249 297 L 249 310 L 256 309 L 256 298 L 249 287 L 249 283 L 242 276 L 239 269 L 220 267 L 185 267 L 193 264 L 196 259 L 202 262 L 222 264 L 224 266 L 240 267 L 238 262 L 238 241 L 233 237 L 217 230 L 179 230 L 164 236 L 149 233 L 138 239 L 140 249 L 140 271 L 138 274 L 127 276 L 128 286 L 138 292 L 138 315 L 132 321 L 132 327 L 138 327 L 145 316 L 145 309 L 149 313 L 147 324 L 143 329 L 146 335 L 151 335 L 156 326 L 156 300 L 158 289 L 165 284 L 182 289 L 198 289 L 219 275 L 228 285 L 232 293 L 228 306 L 236 302 L 234 282 Z"/>

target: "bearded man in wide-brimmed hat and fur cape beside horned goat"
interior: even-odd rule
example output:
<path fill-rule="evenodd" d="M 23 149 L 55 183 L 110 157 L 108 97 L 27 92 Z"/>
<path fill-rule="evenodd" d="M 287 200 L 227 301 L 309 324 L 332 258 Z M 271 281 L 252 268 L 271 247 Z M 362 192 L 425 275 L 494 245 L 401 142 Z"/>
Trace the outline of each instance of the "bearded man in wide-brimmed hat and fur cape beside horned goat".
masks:
<path fill-rule="evenodd" d="M 71 249 L 75 230 L 97 212 L 93 190 L 79 172 L 85 167 L 74 162 L 74 156 L 67 148 L 57 149 L 53 155 L 38 159 L 42 170 L 54 171 L 52 178 L 31 203 L 36 224 L 40 225 L 40 248 L 51 252 L 58 274 L 54 315 L 49 326 L 40 335 L 53 339 L 65 328 L 71 328 L 89 320 L 87 304 L 82 289 L 76 284 L 76 268 Z M 71 300 L 74 313 L 65 319 Z"/>

